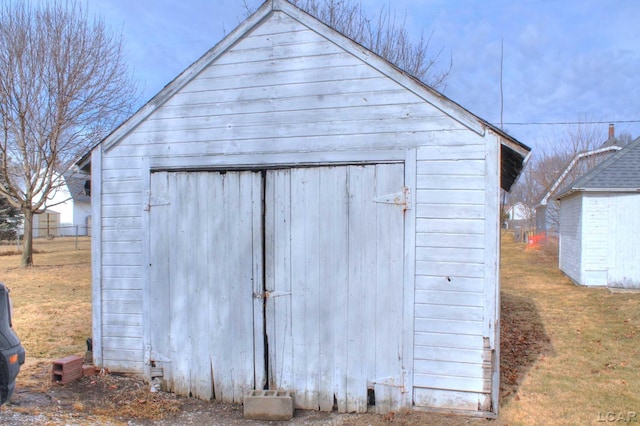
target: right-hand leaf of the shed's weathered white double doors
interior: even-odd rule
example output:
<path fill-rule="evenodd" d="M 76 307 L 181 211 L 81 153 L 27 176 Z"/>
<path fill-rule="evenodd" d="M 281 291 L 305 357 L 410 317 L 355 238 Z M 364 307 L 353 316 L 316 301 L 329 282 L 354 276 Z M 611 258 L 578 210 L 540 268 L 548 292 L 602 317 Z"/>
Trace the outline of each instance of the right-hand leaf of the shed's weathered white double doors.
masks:
<path fill-rule="evenodd" d="M 403 207 L 374 201 L 404 186 L 402 164 L 267 173 L 270 382 L 296 406 L 400 407 Z"/>

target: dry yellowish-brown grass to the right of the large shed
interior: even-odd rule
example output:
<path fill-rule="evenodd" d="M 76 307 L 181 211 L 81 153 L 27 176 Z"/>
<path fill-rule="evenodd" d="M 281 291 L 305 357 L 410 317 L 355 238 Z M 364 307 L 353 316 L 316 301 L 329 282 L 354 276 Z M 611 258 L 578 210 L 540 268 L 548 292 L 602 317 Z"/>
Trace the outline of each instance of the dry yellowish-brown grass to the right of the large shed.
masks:
<path fill-rule="evenodd" d="M 577 286 L 558 270 L 555 253 L 503 238 L 503 299 L 533 304 L 521 321 L 539 320 L 551 346 L 538 354 L 500 418 L 592 424 L 607 413 L 631 413 L 633 419 L 640 412 L 640 294 Z"/>

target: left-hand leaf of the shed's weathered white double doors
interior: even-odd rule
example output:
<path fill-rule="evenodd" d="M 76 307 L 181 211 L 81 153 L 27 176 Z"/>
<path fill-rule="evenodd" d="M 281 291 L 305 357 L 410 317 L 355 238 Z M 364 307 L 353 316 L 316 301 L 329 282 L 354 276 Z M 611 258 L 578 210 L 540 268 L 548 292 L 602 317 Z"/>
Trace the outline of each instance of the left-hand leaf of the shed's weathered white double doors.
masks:
<path fill-rule="evenodd" d="M 262 291 L 254 273 L 262 269 L 260 174 L 162 172 L 151 185 L 162 195 L 150 207 L 151 350 L 171 390 L 242 402 L 262 387 L 254 372 L 264 372 L 254 347 L 262 314 L 254 317 L 253 306 Z"/>

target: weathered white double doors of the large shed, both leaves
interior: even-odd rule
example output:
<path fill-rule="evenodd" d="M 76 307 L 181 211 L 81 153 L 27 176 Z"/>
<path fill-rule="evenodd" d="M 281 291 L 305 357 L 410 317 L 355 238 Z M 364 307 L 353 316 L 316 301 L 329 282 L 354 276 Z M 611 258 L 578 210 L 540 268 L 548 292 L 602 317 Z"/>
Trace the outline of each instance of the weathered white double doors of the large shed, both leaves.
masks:
<path fill-rule="evenodd" d="M 397 407 L 403 188 L 402 164 L 152 173 L 145 341 L 168 387 Z"/>

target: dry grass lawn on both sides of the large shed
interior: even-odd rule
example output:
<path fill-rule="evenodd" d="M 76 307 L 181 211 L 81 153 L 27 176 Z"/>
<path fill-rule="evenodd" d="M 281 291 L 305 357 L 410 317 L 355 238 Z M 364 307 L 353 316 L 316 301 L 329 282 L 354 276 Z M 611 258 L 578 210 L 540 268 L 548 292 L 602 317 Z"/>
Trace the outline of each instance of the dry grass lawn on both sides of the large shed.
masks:
<path fill-rule="evenodd" d="M 15 247 L 0 246 L 0 281 L 11 289 L 14 328 L 27 350 L 18 386 L 29 369 L 84 354 L 89 246 L 37 240 L 30 269 L 18 266 Z M 490 423 L 640 422 L 640 294 L 578 287 L 558 271 L 552 249 L 526 250 L 509 235 L 501 271 L 502 396 L 499 420 Z"/>

